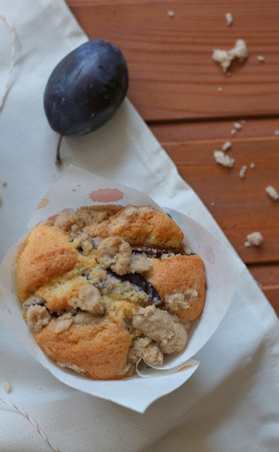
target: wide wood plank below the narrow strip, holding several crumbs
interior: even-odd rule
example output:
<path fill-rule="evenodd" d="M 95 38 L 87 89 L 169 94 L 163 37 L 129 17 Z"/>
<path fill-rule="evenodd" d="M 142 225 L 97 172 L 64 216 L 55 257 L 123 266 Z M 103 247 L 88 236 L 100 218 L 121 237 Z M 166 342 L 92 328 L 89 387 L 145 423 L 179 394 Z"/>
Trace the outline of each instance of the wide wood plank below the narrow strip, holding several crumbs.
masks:
<path fill-rule="evenodd" d="M 245 263 L 279 262 L 279 203 L 268 197 L 269 184 L 279 191 L 278 139 L 232 140 L 229 155 L 235 167 L 225 168 L 213 159 L 223 141 L 162 143 L 179 173 L 201 197 Z M 256 167 L 251 169 L 250 163 Z M 247 165 L 247 176 L 239 169 Z M 211 205 L 214 203 L 214 206 Z M 246 248 L 247 234 L 260 231 L 262 246 Z"/>

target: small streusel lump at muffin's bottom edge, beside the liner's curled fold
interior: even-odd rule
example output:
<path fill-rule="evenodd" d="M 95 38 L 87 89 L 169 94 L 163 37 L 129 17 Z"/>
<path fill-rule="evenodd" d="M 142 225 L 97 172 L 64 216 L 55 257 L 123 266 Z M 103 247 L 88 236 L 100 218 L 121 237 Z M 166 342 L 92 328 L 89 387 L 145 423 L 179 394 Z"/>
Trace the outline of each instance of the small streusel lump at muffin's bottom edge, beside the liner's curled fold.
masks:
<path fill-rule="evenodd" d="M 140 358 L 143 358 L 151 366 L 160 366 L 164 355 L 158 345 L 150 338 L 138 338 L 131 344 L 128 361 L 138 362 Z"/>

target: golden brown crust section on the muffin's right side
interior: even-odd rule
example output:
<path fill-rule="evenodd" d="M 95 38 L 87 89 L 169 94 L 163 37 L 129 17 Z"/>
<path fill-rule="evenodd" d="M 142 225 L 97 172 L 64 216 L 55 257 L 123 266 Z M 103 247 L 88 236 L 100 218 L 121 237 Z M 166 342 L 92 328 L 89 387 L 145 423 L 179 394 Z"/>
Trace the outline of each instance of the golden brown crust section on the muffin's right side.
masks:
<path fill-rule="evenodd" d="M 206 273 L 199 256 L 178 255 L 162 260 L 153 259 L 153 269 L 145 273 L 145 277 L 158 290 L 164 302 L 170 295 L 194 293 L 188 300 L 186 297 L 185 307 L 175 310 L 182 323 L 193 321 L 201 315 L 206 300 Z"/>

